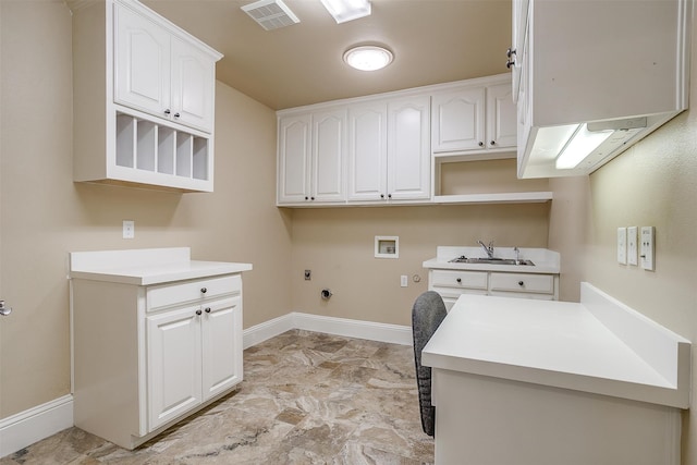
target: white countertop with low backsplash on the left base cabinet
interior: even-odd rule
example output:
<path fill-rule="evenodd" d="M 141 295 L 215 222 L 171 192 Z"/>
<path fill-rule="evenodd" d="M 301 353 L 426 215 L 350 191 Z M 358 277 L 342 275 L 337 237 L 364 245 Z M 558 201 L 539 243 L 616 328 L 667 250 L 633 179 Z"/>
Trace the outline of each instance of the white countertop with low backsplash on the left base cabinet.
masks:
<path fill-rule="evenodd" d="M 249 271 L 252 268 L 250 264 L 192 260 L 188 247 L 70 254 L 71 279 L 136 285 L 233 274 Z"/>

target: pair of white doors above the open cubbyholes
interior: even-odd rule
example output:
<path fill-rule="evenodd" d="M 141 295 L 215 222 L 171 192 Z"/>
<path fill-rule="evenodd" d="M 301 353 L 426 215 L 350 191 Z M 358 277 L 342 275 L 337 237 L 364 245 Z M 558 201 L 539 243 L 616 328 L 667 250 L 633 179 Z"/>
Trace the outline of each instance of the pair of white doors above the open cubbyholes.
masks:
<path fill-rule="evenodd" d="M 216 62 L 129 7 L 114 24 L 114 101 L 211 132 Z"/>

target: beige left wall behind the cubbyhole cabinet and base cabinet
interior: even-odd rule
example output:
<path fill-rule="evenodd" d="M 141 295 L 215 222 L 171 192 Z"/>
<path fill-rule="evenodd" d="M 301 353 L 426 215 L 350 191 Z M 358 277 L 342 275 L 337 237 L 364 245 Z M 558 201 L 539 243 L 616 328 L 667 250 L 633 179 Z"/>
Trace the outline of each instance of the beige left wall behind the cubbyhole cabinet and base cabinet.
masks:
<path fill-rule="evenodd" d="M 245 327 L 289 311 L 290 215 L 273 206 L 276 114 L 217 85 L 216 192 L 72 182 L 71 14 L 60 0 L 0 1 L 0 418 L 70 392 L 71 250 L 191 246 L 254 264 Z M 136 238 L 121 238 L 135 220 Z M 269 292 L 272 285 L 273 292 Z"/>

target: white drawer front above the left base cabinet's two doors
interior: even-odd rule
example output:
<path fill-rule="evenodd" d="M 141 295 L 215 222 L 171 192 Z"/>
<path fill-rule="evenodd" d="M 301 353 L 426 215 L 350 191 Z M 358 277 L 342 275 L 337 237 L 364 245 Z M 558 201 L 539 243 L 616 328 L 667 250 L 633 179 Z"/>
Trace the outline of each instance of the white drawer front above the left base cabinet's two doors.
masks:
<path fill-rule="evenodd" d="M 148 287 L 146 292 L 148 311 L 154 308 L 168 307 L 186 302 L 232 294 L 242 290 L 240 274 L 207 278 L 176 284 L 162 284 Z"/>

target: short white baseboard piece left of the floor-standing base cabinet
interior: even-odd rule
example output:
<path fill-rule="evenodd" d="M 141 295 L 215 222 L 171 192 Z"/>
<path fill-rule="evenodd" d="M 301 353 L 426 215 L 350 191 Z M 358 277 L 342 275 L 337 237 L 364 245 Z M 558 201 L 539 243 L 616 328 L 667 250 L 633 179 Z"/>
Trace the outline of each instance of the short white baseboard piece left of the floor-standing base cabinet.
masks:
<path fill-rule="evenodd" d="M 71 394 L 0 419 L 0 457 L 72 426 Z"/>

